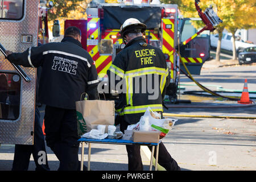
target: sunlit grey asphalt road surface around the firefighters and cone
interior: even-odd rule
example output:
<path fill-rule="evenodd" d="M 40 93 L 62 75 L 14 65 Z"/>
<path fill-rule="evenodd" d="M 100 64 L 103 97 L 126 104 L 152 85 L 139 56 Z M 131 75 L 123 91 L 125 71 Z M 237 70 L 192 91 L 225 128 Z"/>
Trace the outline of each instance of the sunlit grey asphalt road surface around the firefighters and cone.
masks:
<path fill-rule="evenodd" d="M 201 84 L 209 86 L 210 89 L 222 87 L 242 90 L 245 78 L 247 78 L 249 91 L 256 91 L 255 65 L 216 68 L 210 62 L 206 64 L 201 75 L 194 76 L 194 78 Z M 184 75 L 180 76 L 180 83 L 183 84 L 184 90 L 200 90 Z M 186 104 L 187 107 L 179 107 L 184 104 L 177 104 L 177 107 L 166 110 L 166 113 L 256 117 L 256 106 L 213 109 L 207 106 L 237 105 L 237 103 L 212 97 L 183 94 L 179 95 L 179 99 L 191 100 L 192 104 Z M 196 105 L 204 105 L 205 107 L 188 107 Z M 40 110 L 41 119 L 43 119 L 43 107 Z M 173 118 L 179 119 L 179 121 L 163 139 L 163 143 L 182 170 L 256 170 L 256 119 Z M 85 153 L 88 153 L 87 148 Z M 2 144 L 0 147 L 0 170 L 9 171 L 11 169 L 13 155 L 14 145 Z M 148 170 L 150 164 L 150 159 L 147 156 L 148 151 L 143 148 L 141 155 L 144 169 Z M 48 147 L 47 156 L 51 170 L 57 170 L 59 162 Z M 87 156 L 85 155 L 86 160 Z M 91 161 L 92 170 L 126 171 L 125 146 L 92 144 Z M 29 170 L 33 171 L 34 169 L 35 164 L 31 156 Z"/>

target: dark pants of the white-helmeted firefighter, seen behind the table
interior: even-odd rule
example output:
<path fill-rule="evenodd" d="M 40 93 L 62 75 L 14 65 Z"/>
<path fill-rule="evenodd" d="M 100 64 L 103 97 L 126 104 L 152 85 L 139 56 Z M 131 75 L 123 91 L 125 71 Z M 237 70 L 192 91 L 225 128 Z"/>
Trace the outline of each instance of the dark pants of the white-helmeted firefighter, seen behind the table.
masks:
<path fill-rule="evenodd" d="M 127 129 L 127 123 L 123 118 L 120 122 L 120 130 L 122 133 Z M 150 151 L 152 147 L 148 146 Z M 137 145 L 126 145 L 126 151 L 128 154 L 128 170 L 129 171 L 143 171 L 143 164 L 141 159 L 141 146 Z M 154 152 L 154 155 L 156 151 Z M 158 163 L 163 166 L 167 171 L 180 171 L 180 167 L 177 162 L 172 159 L 171 155 L 167 151 L 166 147 L 162 142 L 159 143 L 159 154 Z"/>

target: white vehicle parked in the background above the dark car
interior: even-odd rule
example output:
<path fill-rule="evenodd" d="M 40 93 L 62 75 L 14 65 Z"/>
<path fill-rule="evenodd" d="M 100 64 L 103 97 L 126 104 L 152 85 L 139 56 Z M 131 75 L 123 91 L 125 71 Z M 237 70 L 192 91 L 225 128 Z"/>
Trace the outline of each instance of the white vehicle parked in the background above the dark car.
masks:
<path fill-rule="evenodd" d="M 210 46 L 211 47 L 217 47 L 218 43 L 218 34 L 210 34 Z M 236 51 L 239 51 L 240 49 L 244 49 L 247 47 L 253 47 L 256 46 L 255 44 L 250 44 L 242 41 L 235 41 L 236 43 Z M 221 49 L 225 49 L 227 51 L 233 51 L 233 39 L 232 34 L 223 33 L 222 39 L 221 39 Z"/>

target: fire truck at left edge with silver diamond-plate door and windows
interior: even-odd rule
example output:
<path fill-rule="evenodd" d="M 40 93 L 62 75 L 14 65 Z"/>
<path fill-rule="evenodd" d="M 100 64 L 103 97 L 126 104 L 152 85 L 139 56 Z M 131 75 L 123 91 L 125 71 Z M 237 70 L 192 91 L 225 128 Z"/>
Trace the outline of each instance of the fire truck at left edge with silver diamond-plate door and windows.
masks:
<path fill-rule="evenodd" d="M 0 0 L 0 144 L 33 144 L 36 68 L 10 63 L 4 51 L 47 43 L 50 7 L 43 0 Z"/>

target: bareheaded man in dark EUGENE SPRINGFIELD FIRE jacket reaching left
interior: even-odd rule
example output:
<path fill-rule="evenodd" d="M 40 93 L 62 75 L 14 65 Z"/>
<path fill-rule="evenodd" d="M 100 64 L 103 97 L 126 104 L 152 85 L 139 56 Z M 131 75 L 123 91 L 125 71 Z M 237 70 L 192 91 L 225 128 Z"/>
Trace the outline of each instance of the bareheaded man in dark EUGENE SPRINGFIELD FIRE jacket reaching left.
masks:
<path fill-rule="evenodd" d="M 98 98 L 94 61 L 81 46 L 81 31 L 68 27 L 61 43 L 31 47 L 22 53 L 6 51 L 7 59 L 24 67 L 42 66 L 39 102 L 46 105 L 47 146 L 60 161 L 59 170 L 79 169 L 76 101 L 82 93 Z"/>

